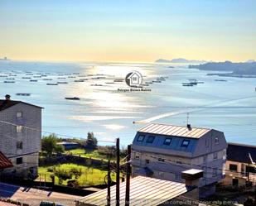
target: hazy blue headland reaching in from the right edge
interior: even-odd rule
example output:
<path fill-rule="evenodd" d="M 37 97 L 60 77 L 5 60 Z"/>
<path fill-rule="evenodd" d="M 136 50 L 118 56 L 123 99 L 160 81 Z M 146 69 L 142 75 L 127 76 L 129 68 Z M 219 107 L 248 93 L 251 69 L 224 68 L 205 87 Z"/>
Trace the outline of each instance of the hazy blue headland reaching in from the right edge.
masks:
<path fill-rule="evenodd" d="M 225 74 L 208 74 L 208 75 L 256 78 L 256 62 L 255 61 L 247 61 L 247 62 L 240 62 L 240 63 L 234 63 L 231 61 L 209 62 L 202 65 L 189 65 L 189 68 L 196 68 L 196 69 L 210 70 L 210 71 L 229 71 L 229 73 L 225 73 Z"/>

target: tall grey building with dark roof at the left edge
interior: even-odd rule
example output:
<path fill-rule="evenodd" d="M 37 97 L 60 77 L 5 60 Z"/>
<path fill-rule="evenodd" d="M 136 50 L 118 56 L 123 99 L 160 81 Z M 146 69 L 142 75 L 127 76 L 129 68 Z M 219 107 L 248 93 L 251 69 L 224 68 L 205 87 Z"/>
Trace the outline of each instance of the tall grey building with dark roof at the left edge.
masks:
<path fill-rule="evenodd" d="M 0 105 L 4 101 L 0 100 Z M 0 107 L 0 151 L 12 161 L 2 175 L 36 177 L 41 151 L 41 107 L 8 100 Z"/>

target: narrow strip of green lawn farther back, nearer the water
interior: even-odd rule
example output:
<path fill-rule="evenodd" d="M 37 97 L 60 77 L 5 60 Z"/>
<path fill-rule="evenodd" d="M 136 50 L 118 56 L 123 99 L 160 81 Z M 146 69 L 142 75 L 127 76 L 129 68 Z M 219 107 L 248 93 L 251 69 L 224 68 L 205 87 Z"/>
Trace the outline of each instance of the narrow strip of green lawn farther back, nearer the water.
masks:
<path fill-rule="evenodd" d="M 98 150 L 94 151 L 85 151 L 85 149 L 74 149 L 70 151 L 65 151 L 65 154 L 72 154 L 75 156 L 82 156 L 82 157 L 91 157 L 97 160 L 109 160 L 106 156 L 100 155 Z M 110 160 L 115 160 L 115 158 L 110 158 Z"/>

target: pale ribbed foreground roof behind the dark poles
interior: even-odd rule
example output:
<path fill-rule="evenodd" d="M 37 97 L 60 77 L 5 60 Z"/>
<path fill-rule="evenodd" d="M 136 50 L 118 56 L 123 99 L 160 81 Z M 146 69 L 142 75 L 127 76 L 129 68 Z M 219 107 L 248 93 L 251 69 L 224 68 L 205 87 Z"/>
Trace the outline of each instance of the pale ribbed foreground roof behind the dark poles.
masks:
<path fill-rule="evenodd" d="M 120 205 L 125 202 L 126 182 L 120 184 Z M 181 194 L 185 194 L 189 189 L 186 184 L 168 180 L 160 180 L 150 177 L 137 176 L 130 181 L 130 206 L 159 205 L 174 199 Z M 103 189 L 94 194 L 89 194 L 79 200 L 84 205 L 107 204 L 107 189 Z M 111 205 L 115 205 L 116 186 L 110 188 Z M 80 205 L 83 205 L 80 204 Z"/>

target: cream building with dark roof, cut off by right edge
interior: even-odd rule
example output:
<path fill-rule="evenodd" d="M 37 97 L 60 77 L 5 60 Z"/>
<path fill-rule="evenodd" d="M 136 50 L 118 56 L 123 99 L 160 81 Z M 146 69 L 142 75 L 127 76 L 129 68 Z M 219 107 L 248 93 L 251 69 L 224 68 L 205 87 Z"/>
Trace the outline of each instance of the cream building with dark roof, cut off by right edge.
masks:
<path fill-rule="evenodd" d="M 256 146 L 229 143 L 227 149 L 225 185 L 256 185 Z"/>

